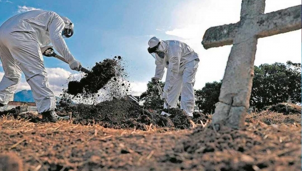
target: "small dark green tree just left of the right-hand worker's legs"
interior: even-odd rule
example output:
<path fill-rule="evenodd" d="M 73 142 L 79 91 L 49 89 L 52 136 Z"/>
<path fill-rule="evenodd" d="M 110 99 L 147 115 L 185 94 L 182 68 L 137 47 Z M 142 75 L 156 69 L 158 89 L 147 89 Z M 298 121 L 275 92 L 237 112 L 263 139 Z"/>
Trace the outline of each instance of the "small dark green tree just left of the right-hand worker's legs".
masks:
<path fill-rule="evenodd" d="M 162 90 L 164 85 L 165 82 L 160 81 Z M 161 95 L 157 86 L 150 81 L 147 83 L 147 91 L 143 92 L 139 99 L 143 102 L 146 109 L 161 110 L 164 108 L 164 101 L 161 100 Z"/>

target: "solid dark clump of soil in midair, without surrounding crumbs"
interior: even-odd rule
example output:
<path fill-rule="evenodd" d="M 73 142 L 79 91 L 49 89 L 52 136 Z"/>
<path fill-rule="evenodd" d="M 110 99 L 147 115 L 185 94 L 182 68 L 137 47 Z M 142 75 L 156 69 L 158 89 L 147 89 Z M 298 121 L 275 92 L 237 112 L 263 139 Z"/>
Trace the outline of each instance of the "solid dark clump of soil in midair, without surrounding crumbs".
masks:
<path fill-rule="evenodd" d="M 68 82 L 67 93 L 74 96 L 98 93 L 111 78 L 116 76 L 116 65 L 117 61 L 114 59 L 105 59 L 103 62 L 96 63 L 91 72 L 80 81 Z"/>

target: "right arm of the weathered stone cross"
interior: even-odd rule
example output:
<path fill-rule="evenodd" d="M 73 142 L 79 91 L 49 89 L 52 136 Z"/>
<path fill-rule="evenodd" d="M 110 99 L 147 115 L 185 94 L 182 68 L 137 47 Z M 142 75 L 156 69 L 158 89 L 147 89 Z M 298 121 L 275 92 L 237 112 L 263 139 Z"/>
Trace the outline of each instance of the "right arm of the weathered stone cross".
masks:
<path fill-rule="evenodd" d="M 267 37 L 301 29 L 301 5 L 260 15 L 257 37 Z"/>

